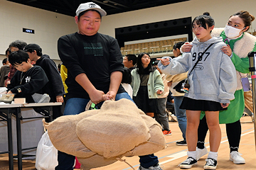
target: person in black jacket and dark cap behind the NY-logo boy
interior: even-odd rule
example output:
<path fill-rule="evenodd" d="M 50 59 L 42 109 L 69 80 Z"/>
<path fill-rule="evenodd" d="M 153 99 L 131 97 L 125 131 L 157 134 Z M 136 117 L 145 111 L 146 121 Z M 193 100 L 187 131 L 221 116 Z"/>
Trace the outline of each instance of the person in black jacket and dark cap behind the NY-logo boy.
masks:
<path fill-rule="evenodd" d="M 28 53 L 31 61 L 36 62 L 36 65 L 41 66 L 46 72 L 49 81 L 44 92 L 49 94 L 50 102 L 63 103 L 64 87 L 55 62 L 50 60 L 48 55 L 43 55 L 41 47 L 37 44 L 26 45 L 24 51 Z M 53 119 L 63 115 L 63 108 L 63 106 L 53 106 Z"/>

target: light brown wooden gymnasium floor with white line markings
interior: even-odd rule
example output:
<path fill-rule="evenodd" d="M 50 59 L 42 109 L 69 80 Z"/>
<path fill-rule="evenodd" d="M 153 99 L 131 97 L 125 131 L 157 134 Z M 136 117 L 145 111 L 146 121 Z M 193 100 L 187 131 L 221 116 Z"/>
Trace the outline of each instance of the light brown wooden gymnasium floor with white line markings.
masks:
<path fill-rule="evenodd" d="M 250 116 L 245 116 L 241 118 L 242 124 L 242 137 L 240 141 L 239 152 L 242 154 L 242 157 L 245 158 L 246 164 L 233 164 L 229 160 L 229 145 L 227 136 L 225 133 L 225 125 L 220 125 L 222 131 L 222 140 L 220 144 L 220 149 L 218 150 L 218 168 L 217 169 L 256 169 L 256 155 L 255 155 L 255 132 L 254 124 Z M 181 130 L 178 128 L 177 122 L 169 123 L 172 135 L 166 136 L 166 145 L 168 147 L 160 152 L 156 153 L 156 156 L 159 157 L 159 162 L 164 170 L 176 170 L 178 164 L 183 162 L 186 159 L 186 146 L 177 146 L 175 143 L 179 140 L 182 140 Z M 206 147 L 209 146 L 208 136 L 206 137 Z M 208 148 L 209 150 L 209 148 Z M 203 166 L 206 164 L 205 159 L 207 156 L 202 157 L 198 161 L 197 166 L 193 166 L 193 170 L 203 169 Z M 131 164 L 134 169 L 139 167 L 139 157 L 124 157 L 129 164 Z M 14 161 L 14 169 L 17 169 L 17 162 Z M 8 155 L 0 155 L 0 170 L 9 169 L 8 166 Z M 23 170 L 34 169 L 35 170 L 35 161 L 23 161 Z M 115 162 L 109 166 L 100 167 L 93 170 L 128 170 L 132 169 L 124 162 Z"/>

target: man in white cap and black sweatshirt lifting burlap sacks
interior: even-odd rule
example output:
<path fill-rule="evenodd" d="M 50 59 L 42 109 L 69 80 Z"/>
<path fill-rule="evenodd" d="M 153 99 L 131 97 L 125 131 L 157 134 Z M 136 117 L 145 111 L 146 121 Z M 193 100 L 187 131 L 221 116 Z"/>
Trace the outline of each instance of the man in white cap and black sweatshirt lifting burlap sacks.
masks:
<path fill-rule="evenodd" d="M 68 69 L 64 115 L 82 113 L 90 100 L 95 104 L 108 99 L 132 100 L 121 86 L 124 65 L 117 40 L 97 33 L 102 16 L 106 15 L 106 11 L 93 2 L 80 4 L 75 16 L 78 32 L 58 40 L 58 54 Z M 74 156 L 58 152 L 55 169 L 73 169 L 74 161 Z M 139 169 L 161 170 L 154 154 L 140 157 L 140 162 Z"/>

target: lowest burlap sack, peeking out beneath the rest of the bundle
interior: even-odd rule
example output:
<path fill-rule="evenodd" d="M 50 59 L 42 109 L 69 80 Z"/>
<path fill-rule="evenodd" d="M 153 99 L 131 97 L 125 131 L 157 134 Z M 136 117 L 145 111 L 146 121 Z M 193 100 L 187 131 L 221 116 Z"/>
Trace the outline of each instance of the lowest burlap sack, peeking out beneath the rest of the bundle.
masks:
<path fill-rule="evenodd" d="M 92 157 L 87 158 L 78 157 L 78 161 L 81 164 L 82 170 L 89 170 L 92 168 L 113 164 L 114 162 L 117 162 L 117 159 L 115 157 L 107 159 L 99 154 L 95 154 Z"/>

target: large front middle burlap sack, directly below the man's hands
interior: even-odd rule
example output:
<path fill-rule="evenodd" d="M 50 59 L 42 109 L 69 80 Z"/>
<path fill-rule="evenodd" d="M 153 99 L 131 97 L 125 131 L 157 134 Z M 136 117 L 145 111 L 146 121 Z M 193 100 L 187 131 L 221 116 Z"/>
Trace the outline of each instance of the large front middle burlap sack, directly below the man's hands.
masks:
<path fill-rule="evenodd" d="M 149 140 L 149 128 L 137 106 L 128 99 L 105 101 L 99 113 L 80 120 L 82 143 L 105 158 L 117 157 Z"/>

